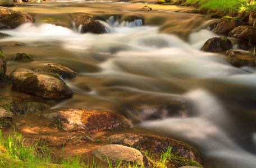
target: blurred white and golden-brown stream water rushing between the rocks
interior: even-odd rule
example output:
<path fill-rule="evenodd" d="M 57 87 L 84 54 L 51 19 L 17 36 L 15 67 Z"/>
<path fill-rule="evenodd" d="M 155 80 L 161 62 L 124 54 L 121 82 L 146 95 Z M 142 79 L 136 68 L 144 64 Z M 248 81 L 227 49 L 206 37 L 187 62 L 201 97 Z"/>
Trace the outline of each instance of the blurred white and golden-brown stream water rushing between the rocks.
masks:
<path fill-rule="evenodd" d="M 2 46 L 7 74 L 63 64 L 78 74 L 65 80 L 74 96 L 52 108 L 110 109 L 135 128 L 193 144 L 203 153 L 205 167 L 256 167 L 255 69 L 235 68 L 223 54 L 200 51 L 207 39 L 218 36 L 207 30 L 214 20 L 173 12 L 188 8 L 150 3 L 50 1 L 13 7 L 33 13 L 35 22 L 1 31 L 11 36 L 0 42 L 25 44 Z M 80 34 L 69 16 L 76 12 L 94 16 L 109 33 Z M 134 22 L 126 20 L 131 16 Z M 36 61 L 14 62 L 18 52 Z M 31 96 L 9 85 L 0 93 Z M 169 114 L 172 103 L 183 106 L 178 115 Z"/>

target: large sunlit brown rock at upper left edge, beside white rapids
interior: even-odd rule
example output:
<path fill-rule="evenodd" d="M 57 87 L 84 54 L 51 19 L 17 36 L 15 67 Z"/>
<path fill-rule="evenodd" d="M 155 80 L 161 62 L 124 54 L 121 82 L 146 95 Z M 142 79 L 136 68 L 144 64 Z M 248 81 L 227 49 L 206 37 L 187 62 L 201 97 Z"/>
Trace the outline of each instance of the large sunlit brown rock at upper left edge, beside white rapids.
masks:
<path fill-rule="evenodd" d="M 10 29 L 15 29 L 25 22 L 33 21 L 33 17 L 31 17 L 26 12 L 15 11 L 6 7 L 0 7 L 0 27 L 2 28 L 9 27 Z"/>

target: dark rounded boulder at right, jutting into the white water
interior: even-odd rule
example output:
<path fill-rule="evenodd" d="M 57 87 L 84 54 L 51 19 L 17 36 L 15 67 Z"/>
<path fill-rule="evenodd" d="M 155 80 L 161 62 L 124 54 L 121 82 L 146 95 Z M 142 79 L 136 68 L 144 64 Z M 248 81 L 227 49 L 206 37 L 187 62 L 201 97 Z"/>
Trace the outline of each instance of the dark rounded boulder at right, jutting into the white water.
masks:
<path fill-rule="evenodd" d="M 226 37 L 211 38 L 207 40 L 202 49 L 204 52 L 225 52 L 231 49 L 232 43 Z"/>

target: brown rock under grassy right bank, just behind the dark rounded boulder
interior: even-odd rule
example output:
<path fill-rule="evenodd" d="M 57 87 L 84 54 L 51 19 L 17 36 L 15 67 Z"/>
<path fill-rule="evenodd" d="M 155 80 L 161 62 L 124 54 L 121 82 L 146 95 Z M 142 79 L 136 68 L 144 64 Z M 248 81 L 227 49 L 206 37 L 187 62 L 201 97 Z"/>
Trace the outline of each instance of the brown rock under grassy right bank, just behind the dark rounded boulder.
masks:
<path fill-rule="evenodd" d="M 241 21 L 241 20 L 234 20 L 234 19 L 225 20 L 225 21 L 220 22 L 217 25 L 214 32 L 217 34 L 222 34 L 222 35 L 227 36 L 231 30 L 235 29 L 235 27 L 243 26 L 243 25 L 248 25 L 248 23 Z"/>

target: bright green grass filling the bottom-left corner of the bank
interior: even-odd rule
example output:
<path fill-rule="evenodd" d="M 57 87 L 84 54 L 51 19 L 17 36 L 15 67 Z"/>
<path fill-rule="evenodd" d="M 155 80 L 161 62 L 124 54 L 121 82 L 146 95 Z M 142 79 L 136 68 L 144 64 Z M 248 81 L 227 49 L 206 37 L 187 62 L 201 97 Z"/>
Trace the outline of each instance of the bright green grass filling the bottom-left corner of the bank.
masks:
<path fill-rule="evenodd" d="M 0 130 L 0 167 L 85 167 L 101 168 L 94 160 L 91 164 L 84 164 L 81 155 L 68 157 L 57 163 L 57 158 L 52 158 L 45 141 L 38 139 L 24 139 L 22 134 L 14 133 L 3 136 Z M 89 161 L 88 161 L 89 162 Z"/>

